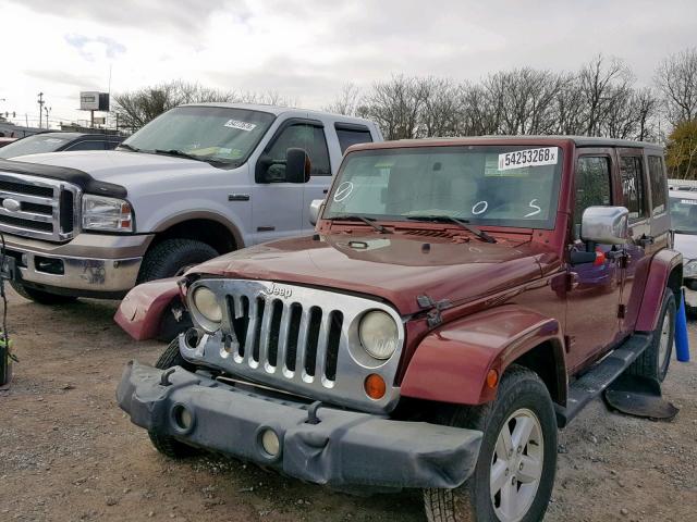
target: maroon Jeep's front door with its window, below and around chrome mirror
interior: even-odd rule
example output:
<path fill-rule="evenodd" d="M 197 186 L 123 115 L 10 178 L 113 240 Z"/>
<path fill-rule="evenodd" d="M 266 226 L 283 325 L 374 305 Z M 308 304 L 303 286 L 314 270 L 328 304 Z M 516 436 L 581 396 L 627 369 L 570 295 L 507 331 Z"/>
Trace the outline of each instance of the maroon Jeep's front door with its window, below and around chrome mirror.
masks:
<path fill-rule="evenodd" d="M 619 199 L 613 184 L 611 149 L 580 149 L 574 174 L 575 202 L 573 241 L 570 249 L 589 248 L 580 239 L 583 211 L 588 207 L 610 207 Z M 614 188 L 614 189 L 613 189 Z M 579 368 L 584 361 L 601 352 L 619 339 L 617 311 L 621 299 L 622 249 L 595 245 L 596 262 L 568 266 L 566 288 L 567 361 Z"/>

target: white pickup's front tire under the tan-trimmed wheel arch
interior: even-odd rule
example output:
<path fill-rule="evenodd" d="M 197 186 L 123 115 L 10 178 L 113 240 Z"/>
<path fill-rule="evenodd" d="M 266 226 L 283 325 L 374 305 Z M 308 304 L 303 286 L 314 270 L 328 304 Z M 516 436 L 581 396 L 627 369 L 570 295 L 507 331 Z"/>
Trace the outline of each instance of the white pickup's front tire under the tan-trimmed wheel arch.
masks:
<path fill-rule="evenodd" d="M 218 256 L 218 251 L 204 241 L 164 239 L 146 252 L 136 283 L 173 277 L 189 266 Z"/>

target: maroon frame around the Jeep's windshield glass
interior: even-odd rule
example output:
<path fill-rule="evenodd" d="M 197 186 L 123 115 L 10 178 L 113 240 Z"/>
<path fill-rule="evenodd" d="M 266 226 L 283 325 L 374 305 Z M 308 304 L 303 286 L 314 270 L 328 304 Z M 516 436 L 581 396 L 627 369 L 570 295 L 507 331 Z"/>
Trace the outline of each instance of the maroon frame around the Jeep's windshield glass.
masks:
<path fill-rule="evenodd" d="M 511 219 L 488 219 L 488 220 L 479 220 L 474 216 L 454 216 L 457 219 L 466 220 L 467 224 L 475 225 L 476 227 L 489 227 L 489 228 L 508 228 L 508 229 L 518 229 L 518 231 L 530 231 L 530 229 L 543 229 L 543 231 L 553 231 L 557 227 L 557 216 L 560 211 L 560 203 L 562 202 L 561 189 L 564 179 L 564 170 L 566 167 L 566 153 L 567 150 L 558 141 L 537 141 L 537 142 L 515 142 L 515 144 L 505 144 L 505 142 L 491 142 L 491 144 L 438 144 L 438 145 L 429 145 L 429 146 L 404 146 L 404 147 L 375 147 L 369 149 L 358 149 L 348 151 L 345 156 L 337 175 L 334 176 L 334 181 L 332 183 L 331 189 L 326 198 L 326 203 L 322 209 L 321 219 L 326 221 L 341 221 L 341 213 L 337 213 L 335 215 L 330 214 L 331 201 L 334 198 L 334 195 L 339 187 L 342 184 L 342 177 L 346 165 L 352 158 L 356 156 L 366 157 L 366 156 L 386 156 L 386 154 L 399 154 L 400 152 L 408 151 L 408 153 L 433 153 L 433 149 L 447 152 L 448 149 L 464 149 L 465 152 L 479 152 L 486 149 L 506 149 L 505 152 L 512 152 L 515 150 L 527 150 L 527 149 L 538 149 L 538 148 L 548 148 L 554 147 L 558 149 L 558 162 L 557 170 L 554 171 L 554 179 L 551 186 L 551 200 L 550 200 L 550 211 L 547 220 L 518 220 L 516 223 L 513 223 L 514 220 Z M 414 216 L 418 214 L 414 214 L 414 216 L 409 215 L 389 215 L 389 214 L 369 214 L 369 213 L 360 213 L 360 212 L 348 212 L 346 215 L 352 214 L 355 215 L 359 213 L 360 215 L 374 220 L 376 222 L 394 222 L 400 224 L 411 224 L 416 225 L 418 223 L 423 224 L 427 221 L 417 221 Z M 448 215 L 448 214 L 443 214 Z M 411 217 L 411 219 L 409 219 Z M 432 217 L 432 216 L 431 216 Z M 431 221 L 432 223 L 432 221 Z M 441 223 L 442 226 L 442 223 Z"/>

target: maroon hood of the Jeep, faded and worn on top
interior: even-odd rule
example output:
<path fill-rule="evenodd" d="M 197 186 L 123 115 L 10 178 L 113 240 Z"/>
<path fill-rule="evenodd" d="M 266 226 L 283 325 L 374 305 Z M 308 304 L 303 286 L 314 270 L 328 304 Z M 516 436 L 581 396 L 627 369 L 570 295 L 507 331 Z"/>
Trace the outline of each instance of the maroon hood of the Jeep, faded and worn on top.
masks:
<path fill-rule="evenodd" d="M 316 237 L 239 250 L 207 261 L 187 275 L 337 288 L 377 296 L 409 314 L 420 310 L 416 301 L 420 295 L 461 303 L 539 278 L 540 259 L 553 256 L 535 243 L 425 244 L 423 237 L 402 234 Z"/>

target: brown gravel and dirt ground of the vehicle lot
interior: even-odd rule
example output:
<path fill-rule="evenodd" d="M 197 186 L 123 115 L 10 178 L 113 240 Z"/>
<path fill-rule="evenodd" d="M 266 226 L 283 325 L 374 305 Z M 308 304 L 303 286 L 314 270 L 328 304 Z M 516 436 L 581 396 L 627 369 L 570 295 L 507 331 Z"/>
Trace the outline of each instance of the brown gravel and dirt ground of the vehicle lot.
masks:
<path fill-rule="evenodd" d="M 0 520 L 424 521 L 417 493 L 355 498 L 216 457 L 171 462 L 115 406 L 123 363 L 154 362 L 115 303 L 45 308 L 11 295 L 21 363 L 0 391 Z M 697 328 L 690 339 L 697 347 Z M 693 350 L 695 351 L 695 350 Z M 697 520 L 697 372 L 673 363 L 673 423 L 596 401 L 562 432 L 548 521 Z"/>

